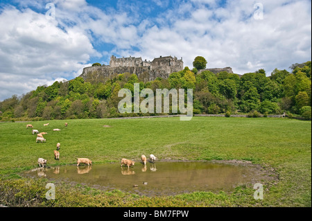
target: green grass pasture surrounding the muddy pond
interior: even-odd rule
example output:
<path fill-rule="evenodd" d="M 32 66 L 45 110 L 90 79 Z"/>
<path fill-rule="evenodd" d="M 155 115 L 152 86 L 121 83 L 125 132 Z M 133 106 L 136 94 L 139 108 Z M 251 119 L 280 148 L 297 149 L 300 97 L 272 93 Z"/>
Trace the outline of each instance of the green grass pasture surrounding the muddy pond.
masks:
<path fill-rule="evenodd" d="M 35 143 L 28 123 L 0 123 L 0 204 L 8 206 L 311 206 L 311 121 L 287 118 L 193 117 L 82 119 L 32 122 L 48 132 L 46 143 Z M 111 127 L 103 127 L 110 125 Z M 60 132 L 53 132 L 60 128 Z M 53 150 L 61 143 L 60 161 Z M 121 191 L 56 184 L 60 197 L 45 200 L 45 179 L 25 179 L 18 173 L 37 167 L 76 163 L 139 161 L 141 154 L 158 159 L 246 160 L 275 169 L 279 181 L 266 184 L 264 199 L 254 200 L 252 186 L 233 193 L 196 192 L 170 197 L 144 197 Z M 82 197 L 83 196 L 83 197 Z M 35 200 L 31 201 L 33 198 Z M 82 200 L 86 199 L 86 200 Z"/>

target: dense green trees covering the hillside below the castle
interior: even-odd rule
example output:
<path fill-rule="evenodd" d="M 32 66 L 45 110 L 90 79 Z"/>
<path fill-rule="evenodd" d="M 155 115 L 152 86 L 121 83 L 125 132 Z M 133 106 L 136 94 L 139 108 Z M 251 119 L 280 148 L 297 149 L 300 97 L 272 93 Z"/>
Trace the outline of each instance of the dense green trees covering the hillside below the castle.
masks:
<path fill-rule="evenodd" d="M 292 64 L 291 72 L 275 69 L 267 76 L 259 69 L 238 75 L 198 72 L 196 68 L 171 73 L 168 79 L 145 82 L 136 74 L 115 74 L 110 78 L 74 78 L 47 87 L 39 86 L 21 96 L 0 102 L 0 121 L 41 121 L 75 118 L 148 116 L 156 114 L 118 112 L 118 92 L 134 83 L 140 90 L 193 89 L 193 114 L 283 114 L 311 118 L 311 61 Z M 142 98 L 143 99 L 143 98 Z M 173 114 L 173 113 L 169 113 Z M 179 114 L 179 113 L 177 113 Z"/>

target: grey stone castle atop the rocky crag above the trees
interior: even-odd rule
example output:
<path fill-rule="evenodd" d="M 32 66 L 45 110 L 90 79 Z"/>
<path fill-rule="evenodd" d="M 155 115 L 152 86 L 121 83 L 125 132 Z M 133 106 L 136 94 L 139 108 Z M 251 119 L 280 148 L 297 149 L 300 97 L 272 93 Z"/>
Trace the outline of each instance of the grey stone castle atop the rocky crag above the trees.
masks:
<path fill-rule="evenodd" d="M 138 78 L 144 81 L 155 80 L 159 78 L 168 78 L 170 73 L 182 71 L 184 69 L 182 58 L 166 56 L 154 58 L 152 62 L 142 60 L 142 58 L 116 58 L 114 55 L 110 58 L 110 65 L 86 67 L 80 77 L 86 79 L 92 75 L 101 78 L 109 78 L 118 73 L 136 73 Z"/>

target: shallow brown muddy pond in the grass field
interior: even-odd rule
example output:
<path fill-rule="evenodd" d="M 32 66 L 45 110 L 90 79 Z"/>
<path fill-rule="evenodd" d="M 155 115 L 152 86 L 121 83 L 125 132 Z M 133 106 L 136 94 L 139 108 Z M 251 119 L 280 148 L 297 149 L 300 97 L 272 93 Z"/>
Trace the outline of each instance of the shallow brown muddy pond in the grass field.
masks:
<path fill-rule="evenodd" d="M 28 177 L 84 184 L 104 190 L 119 189 L 139 195 L 175 195 L 193 191 L 232 191 L 240 184 L 260 180 L 259 171 L 209 161 L 158 161 L 144 166 L 136 163 L 128 169 L 119 163 L 92 166 L 37 168 L 24 173 Z M 144 184 L 146 182 L 147 184 Z M 137 187 L 134 187 L 138 185 Z"/>

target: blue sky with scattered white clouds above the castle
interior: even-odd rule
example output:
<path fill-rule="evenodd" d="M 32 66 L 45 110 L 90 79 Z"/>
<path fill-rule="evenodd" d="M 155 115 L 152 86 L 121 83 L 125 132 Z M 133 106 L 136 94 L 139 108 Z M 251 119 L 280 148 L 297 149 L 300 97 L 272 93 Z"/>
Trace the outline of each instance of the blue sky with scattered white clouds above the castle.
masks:
<path fill-rule="evenodd" d="M 0 0 L 0 30 L 0 101 L 111 55 L 267 76 L 311 60 L 311 0 Z"/>

